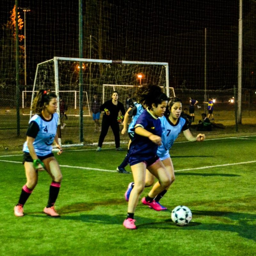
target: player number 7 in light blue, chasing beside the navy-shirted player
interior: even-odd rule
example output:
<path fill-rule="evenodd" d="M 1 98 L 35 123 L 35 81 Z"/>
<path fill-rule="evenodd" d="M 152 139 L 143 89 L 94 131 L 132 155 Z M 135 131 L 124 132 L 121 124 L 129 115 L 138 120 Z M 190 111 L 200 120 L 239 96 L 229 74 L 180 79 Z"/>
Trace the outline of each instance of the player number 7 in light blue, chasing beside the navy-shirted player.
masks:
<path fill-rule="evenodd" d="M 170 174 L 171 180 L 172 180 L 171 184 L 175 180 L 175 175 L 174 175 L 174 168 L 172 164 L 172 159 L 169 154 L 169 150 L 171 149 L 173 142 L 179 136 L 180 132 L 183 131 L 183 134 L 188 141 L 203 141 L 205 139 L 204 134 L 199 133 L 197 134 L 196 137 L 194 137 L 191 134 L 189 130 L 189 122 L 184 118 L 180 117 L 181 110 L 182 110 L 181 100 L 177 97 L 173 97 L 170 99 L 168 103 L 168 109 L 165 115 L 162 118 L 160 118 L 163 133 L 162 133 L 162 145 L 158 146 L 157 156 L 159 156 L 165 168 L 167 169 L 168 173 Z M 154 180 L 155 180 L 155 177 L 150 172 L 147 172 L 145 186 L 146 187 L 152 186 L 152 184 L 154 183 Z M 155 197 L 156 204 L 158 204 L 159 207 L 158 208 L 151 207 L 151 208 L 153 208 L 156 211 L 167 209 L 166 207 L 164 207 L 159 203 L 159 200 L 164 196 L 164 194 L 167 192 L 170 186 L 164 189 L 161 193 L 159 193 Z M 156 182 L 154 187 L 156 188 L 160 187 L 160 184 L 158 181 Z M 128 188 L 124 194 L 125 199 L 127 201 L 129 200 L 129 196 L 132 191 L 132 188 L 133 188 L 133 182 L 131 182 L 128 185 Z"/>

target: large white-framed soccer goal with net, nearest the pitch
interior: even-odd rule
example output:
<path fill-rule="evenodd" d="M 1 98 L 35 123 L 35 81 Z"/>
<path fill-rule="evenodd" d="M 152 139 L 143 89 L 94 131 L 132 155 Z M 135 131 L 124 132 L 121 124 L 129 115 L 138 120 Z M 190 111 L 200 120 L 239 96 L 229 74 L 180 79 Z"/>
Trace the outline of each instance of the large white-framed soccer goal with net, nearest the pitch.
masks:
<path fill-rule="evenodd" d="M 37 64 L 33 91 L 29 92 L 30 105 L 38 89 L 55 91 L 59 98 L 68 102 L 67 114 L 70 115 L 67 116 L 68 119 L 64 117 L 65 127 L 61 129 L 62 145 L 95 143 L 99 134 L 94 133 L 91 102 L 94 94 L 97 94 L 100 102 L 111 99 L 111 90 L 114 87 L 107 87 L 111 84 L 120 85 L 118 91 L 122 103 L 129 93 L 136 93 L 135 88 L 143 84 L 163 86 L 163 92 L 169 96 L 168 63 L 54 57 Z M 110 88 L 110 91 L 106 88 Z M 114 137 L 109 140 L 114 141 Z"/>

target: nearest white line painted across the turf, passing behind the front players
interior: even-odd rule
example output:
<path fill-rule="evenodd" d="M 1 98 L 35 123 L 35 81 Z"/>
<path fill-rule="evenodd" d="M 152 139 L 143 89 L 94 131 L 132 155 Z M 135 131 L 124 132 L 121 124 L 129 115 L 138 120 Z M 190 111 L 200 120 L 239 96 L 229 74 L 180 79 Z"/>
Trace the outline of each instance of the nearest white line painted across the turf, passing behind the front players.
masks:
<path fill-rule="evenodd" d="M 21 164 L 21 162 L 8 161 L 8 160 L 0 160 L 0 162 Z M 256 161 L 240 162 L 240 163 L 233 163 L 233 164 L 217 164 L 217 165 L 203 166 L 203 167 L 197 167 L 197 168 L 187 168 L 187 169 L 175 170 L 175 172 L 183 172 L 183 171 L 191 171 L 191 170 L 203 170 L 203 169 L 208 169 L 208 168 L 216 168 L 216 167 L 231 166 L 231 165 L 238 165 L 238 164 L 252 164 L 252 163 L 256 163 Z M 66 167 L 66 168 L 72 168 L 72 169 L 92 170 L 92 171 L 101 171 L 101 172 L 116 172 L 116 171 L 113 171 L 113 170 L 90 168 L 90 167 L 83 167 L 83 166 L 72 166 L 72 165 L 60 165 L 60 167 Z"/>

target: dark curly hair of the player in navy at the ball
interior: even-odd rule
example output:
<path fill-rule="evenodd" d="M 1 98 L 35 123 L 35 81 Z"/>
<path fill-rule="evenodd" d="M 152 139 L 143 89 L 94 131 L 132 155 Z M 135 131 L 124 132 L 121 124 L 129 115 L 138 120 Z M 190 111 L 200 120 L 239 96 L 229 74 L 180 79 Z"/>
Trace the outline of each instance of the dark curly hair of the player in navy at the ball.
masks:
<path fill-rule="evenodd" d="M 152 108 L 153 104 L 157 107 L 163 101 L 168 100 L 166 94 L 162 92 L 161 87 L 154 84 L 141 86 L 138 90 L 138 97 L 139 101 L 147 104 L 149 108 Z"/>

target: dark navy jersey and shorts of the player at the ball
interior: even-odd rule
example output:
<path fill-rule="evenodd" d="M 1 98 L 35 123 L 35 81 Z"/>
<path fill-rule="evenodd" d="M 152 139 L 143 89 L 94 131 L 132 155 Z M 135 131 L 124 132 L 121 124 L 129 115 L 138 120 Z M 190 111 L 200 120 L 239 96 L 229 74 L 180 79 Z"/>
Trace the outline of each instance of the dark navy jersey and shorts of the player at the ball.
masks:
<path fill-rule="evenodd" d="M 142 127 L 148 132 L 152 132 L 159 137 L 161 137 L 162 135 L 162 126 L 160 119 L 153 116 L 148 108 L 145 109 L 137 119 L 134 125 L 134 129 L 136 127 Z M 134 140 L 132 141 L 129 150 L 130 164 L 134 165 L 144 161 L 150 161 L 150 159 L 156 156 L 157 148 L 158 145 L 149 140 L 148 137 L 140 136 L 137 133 L 134 133 Z"/>

